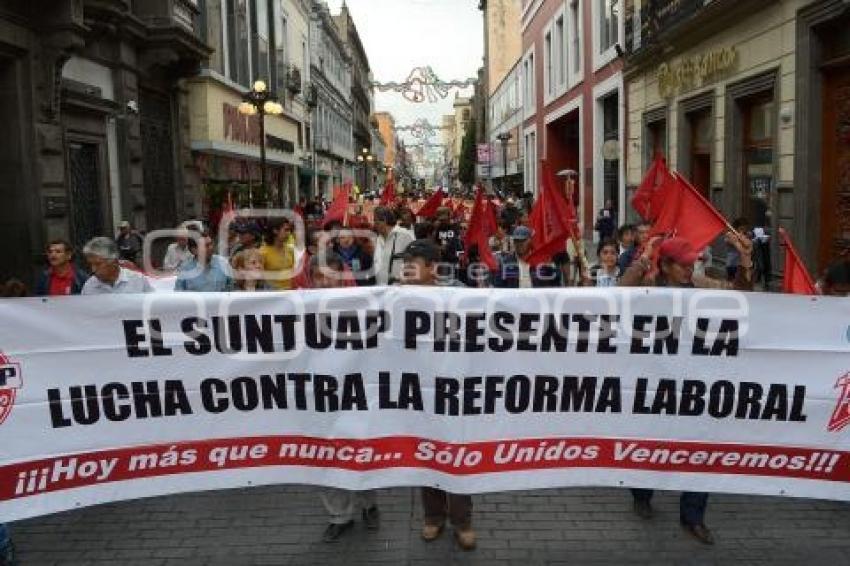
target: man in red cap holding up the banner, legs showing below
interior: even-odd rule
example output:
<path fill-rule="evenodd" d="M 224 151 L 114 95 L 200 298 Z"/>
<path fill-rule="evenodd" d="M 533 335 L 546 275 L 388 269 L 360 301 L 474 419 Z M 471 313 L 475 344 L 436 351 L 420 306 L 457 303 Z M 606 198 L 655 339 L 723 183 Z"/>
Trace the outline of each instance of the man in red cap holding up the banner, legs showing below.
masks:
<path fill-rule="evenodd" d="M 621 287 L 675 287 L 680 289 L 753 289 L 753 243 L 745 235 L 728 232 L 726 242 L 741 254 L 741 263 L 735 281 L 730 283 L 710 277 L 695 276 L 694 264 L 700 254 L 684 238 L 663 240 L 658 236 L 650 240 L 641 257 L 626 270 L 620 279 Z M 655 248 L 658 249 L 658 265 L 654 265 Z M 633 489 L 635 513 L 644 519 L 652 517 L 651 489 Z M 679 500 L 679 520 L 685 530 L 703 544 L 714 544 L 714 535 L 705 526 L 705 510 L 708 494 L 683 492 Z"/>

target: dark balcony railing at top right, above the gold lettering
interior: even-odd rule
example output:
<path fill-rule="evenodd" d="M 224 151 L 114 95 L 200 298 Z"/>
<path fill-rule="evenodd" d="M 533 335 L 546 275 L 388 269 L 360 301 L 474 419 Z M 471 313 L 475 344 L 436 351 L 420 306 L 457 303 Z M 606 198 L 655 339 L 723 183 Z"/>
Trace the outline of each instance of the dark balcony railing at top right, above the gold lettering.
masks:
<path fill-rule="evenodd" d="M 626 46 L 630 54 L 658 45 L 662 36 L 689 21 L 714 0 L 644 0 L 626 20 Z"/>

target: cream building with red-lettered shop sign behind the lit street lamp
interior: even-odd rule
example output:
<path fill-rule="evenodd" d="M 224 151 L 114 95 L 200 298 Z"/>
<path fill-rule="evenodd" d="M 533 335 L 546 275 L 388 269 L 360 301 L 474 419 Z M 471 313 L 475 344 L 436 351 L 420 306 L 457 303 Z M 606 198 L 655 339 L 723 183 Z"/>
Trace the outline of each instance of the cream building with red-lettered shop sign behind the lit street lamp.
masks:
<path fill-rule="evenodd" d="M 308 6 L 304 0 L 273 3 L 248 41 L 239 35 L 251 18 L 248 4 L 235 6 L 231 17 L 223 0 L 206 2 L 206 35 L 215 51 L 208 66 L 186 82 L 192 157 L 208 195 L 220 199 L 230 192 L 241 206 L 291 206 L 309 193 L 312 174 L 305 98 Z M 260 118 L 238 111 L 256 80 L 263 80 L 283 107 L 281 115 L 265 118 L 267 190 L 260 182 Z"/>

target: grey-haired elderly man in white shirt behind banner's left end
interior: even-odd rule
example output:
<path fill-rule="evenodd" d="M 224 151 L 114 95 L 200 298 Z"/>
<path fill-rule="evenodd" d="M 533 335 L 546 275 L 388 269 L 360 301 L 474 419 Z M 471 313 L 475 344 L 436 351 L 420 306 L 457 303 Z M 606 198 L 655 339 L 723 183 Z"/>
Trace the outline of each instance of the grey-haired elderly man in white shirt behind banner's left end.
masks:
<path fill-rule="evenodd" d="M 83 285 L 83 295 L 152 293 L 153 287 L 141 273 L 121 267 L 118 246 L 109 238 L 93 238 L 83 247 L 92 276 Z"/>

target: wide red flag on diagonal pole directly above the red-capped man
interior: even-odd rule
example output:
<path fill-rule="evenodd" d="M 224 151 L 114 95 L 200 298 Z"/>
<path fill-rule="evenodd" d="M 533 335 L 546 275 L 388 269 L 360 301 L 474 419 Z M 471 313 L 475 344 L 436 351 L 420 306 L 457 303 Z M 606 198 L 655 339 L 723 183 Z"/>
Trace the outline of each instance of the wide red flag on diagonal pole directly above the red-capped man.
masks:
<path fill-rule="evenodd" d="M 703 250 L 729 229 L 723 215 L 679 175 L 670 175 L 658 190 L 664 195 L 664 206 L 652 227 L 652 236 L 672 234 Z"/>

